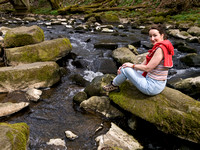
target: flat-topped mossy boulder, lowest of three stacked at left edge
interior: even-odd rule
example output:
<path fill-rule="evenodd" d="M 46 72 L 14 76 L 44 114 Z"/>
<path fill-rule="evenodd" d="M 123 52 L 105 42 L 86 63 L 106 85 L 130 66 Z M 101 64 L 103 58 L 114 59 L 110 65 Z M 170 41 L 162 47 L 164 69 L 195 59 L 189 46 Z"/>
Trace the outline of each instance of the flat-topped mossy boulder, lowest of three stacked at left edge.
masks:
<path fill-rule="evenodd" d="M 55 62 L 36 62 L 0 68 L 0 92 L 26 88 L 45 88 L 60 81 L 60 67 Z"/>

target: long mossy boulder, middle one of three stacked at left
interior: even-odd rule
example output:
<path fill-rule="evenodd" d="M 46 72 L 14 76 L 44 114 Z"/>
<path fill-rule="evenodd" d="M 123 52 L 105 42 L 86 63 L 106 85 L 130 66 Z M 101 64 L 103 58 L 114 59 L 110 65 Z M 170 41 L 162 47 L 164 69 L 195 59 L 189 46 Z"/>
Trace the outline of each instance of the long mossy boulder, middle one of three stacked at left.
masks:
<path fill-rule="evenodd" d="M 72 46 L 69 39 L 58 38 L 38 44 L 8 48 L 5 52 L 7 63 L 9 65 L 18 65 L 20 63 L 56 61 L 66 56 L 71 49 Z"/>

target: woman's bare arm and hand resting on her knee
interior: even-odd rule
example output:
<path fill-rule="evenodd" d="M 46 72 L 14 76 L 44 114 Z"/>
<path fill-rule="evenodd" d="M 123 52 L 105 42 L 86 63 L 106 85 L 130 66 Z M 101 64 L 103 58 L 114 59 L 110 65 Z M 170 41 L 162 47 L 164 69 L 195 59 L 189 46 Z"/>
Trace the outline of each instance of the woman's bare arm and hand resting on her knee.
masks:
<path fill-rule="evenodd" d="M 158 48 L 153 57 L 151 58 L 151 60 L 149 61 L 149 63 L 146 65 L 146 61 L 144 61 L 142 64 L 132 64 L 132 63 L 124 63 L 122 65 L 122 67 L 133 67 L 136 70 L 141 70 L 141 71 L 145 71 L 145 72 L 149 72 L 151 70 L 153 70 L 156 66 L 158 66 L 158 64 L 161 62 L 161 60 L 163 59 L 164 54 L 161 48 Z"/>

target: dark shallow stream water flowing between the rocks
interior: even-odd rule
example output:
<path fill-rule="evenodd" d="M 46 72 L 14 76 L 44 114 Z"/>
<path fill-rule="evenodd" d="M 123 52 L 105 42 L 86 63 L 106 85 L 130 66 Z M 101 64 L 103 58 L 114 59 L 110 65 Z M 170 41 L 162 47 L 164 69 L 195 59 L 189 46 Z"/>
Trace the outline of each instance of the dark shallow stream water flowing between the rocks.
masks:
<path fill-rule="evenodd" d="M 81 21 L 80 21 L 81 22 Z M 45 40 L 67 37 L 72 44 L 72 54 L 75 58 L 63 58 L 62 66 L 67 70 L 61 81 L 51 88 L 42 89 L 43 94 L 38 102 L 31 102 L 29 108 L 13 114 L 8 117 L 0 118 L 1 122 L 17 123 L 25 122 L 30 127 L 30 144 L 29 150 L 54 150 L 62 149 L 55 146 L 47 145 L 50 139 L 61 138 L 66 142 L 68 150 L 95 150 L 97 144 L 95 138 L 105 134 L 110 128 L 110 122 L 116 122 L 130 132 L 134 137 L 142 143 L 144 149 L 161 150 L 161 149 L 185 149 L 194 150 L 199 145 L 190 143 L 159 132 L 149 123 L 141 120 L 141 127 L 138 131 L 129 131 L 122 120 L 108 120 L 97 114 L 85 112 L 78 105 L 73 103 L 73 96 L 84 89 L 83 86 L 75 84 L 71 80 L 71 76 L 79 74 L 84 79 L 91 81 L 95 76 L 105 73 L 116 73 L 117 64 L 114 63 L 116 69 L 106 69 L 102 64 L 105 62 L 114 62 L 111 58 L 112 50 L 105 48 L 95 48 L 96 43 L 116 43 L 118 47 L 124 47 L 134 42 L 135 39 L 141 40 L 141 43 L 148 43 L 148 35 L 141 34 L 141 30 L 132 29 L 127 26 L 125 29 L 118 29 L 117 35 L 112 33 L 101 33 L 97 31 L 82 31 L 68 29 L 64 25 L 51 25 L 47 27 L 41 22 L 33 22 L 26 24 L 31 26 L 37 24 L 44 30 Z M 17 24 L 1 24 L 1 26 L 15 27 Z M 172 44 L 177 40 L 169 38 Z M 200 45 L 198 43 L 188 43 L 200 53 Z M 138 48 L 139 53 L 147 52 L 147 49 L 141 45 Z M 184 53 L 175 49 L 175 57 L 173 58 L 174 67 L 170 70 L 168 78 L 169 82 L 180 78 L 188 78 L 191 76 L 199 76 L 200 68 L 187 67 L 180 62 L 180 57 Z M 79 67 L 74 65 L 79 63 Z M 7 94 L 1 94 L 3 99 Z M 103 129 L 97 133 L 95 130 L 103 123 Z M 70 141 L 65 137 L 65 131 L 70 130 L 78 135 L 74 141 Z"/>

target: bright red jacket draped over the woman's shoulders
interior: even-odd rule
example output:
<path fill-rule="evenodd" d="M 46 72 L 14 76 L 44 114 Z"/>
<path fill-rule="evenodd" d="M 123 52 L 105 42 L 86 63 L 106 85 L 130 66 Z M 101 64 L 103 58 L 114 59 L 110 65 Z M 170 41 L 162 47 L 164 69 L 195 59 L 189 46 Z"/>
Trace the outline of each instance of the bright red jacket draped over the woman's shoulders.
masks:
<path fill-rule="evenodd" d="M 174 55 L 174 47 L 172 43 L 169 40 L 164 40 L 162 42 L 156 43 L 152 49 L 150 49 L 148 52 L 149 54 L 146 56 L 146 64 L 149 63 L 151 58 L 154 55 L 154 52 L 158 49 L 161 48 L 164 53 L 164 66 L 171 68 L 173 67 L 173 61 L 172 61 L 172 56 Z M 146 77 L 147 72 L 144 72 L 142 74 L 144 77 Z"/>

